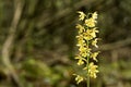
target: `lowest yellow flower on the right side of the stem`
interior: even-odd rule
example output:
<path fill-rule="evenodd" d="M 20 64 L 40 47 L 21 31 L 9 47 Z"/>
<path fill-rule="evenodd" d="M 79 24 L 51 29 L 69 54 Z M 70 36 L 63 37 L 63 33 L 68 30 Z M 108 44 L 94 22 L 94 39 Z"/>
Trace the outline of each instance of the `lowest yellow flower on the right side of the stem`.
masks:
<path fill-rule="evenodd" d="M 93 78 L 96 78 L 96 74 L 98 73 L 98 70 L 97 70 L 97 65 L 95 65 L 93 62 L 90 63 L 88 65 L 88 73 L 90 73 L 90 76 L 93 77 Z"/>

